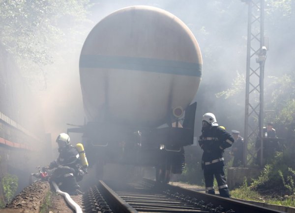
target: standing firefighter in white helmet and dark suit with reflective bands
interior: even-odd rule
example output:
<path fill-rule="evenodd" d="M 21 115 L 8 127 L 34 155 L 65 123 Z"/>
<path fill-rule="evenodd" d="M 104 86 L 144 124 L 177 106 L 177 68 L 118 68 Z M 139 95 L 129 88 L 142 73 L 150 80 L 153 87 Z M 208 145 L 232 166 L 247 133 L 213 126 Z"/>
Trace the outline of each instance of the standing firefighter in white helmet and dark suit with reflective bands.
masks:
<path fill-rule="evenodd" d="M 204 150 L 202 168 L 204 169 L 206 193 L 215 194 L 213 187 L 215 176 L 220 196 L 230 197 L 223 171 L 223 152 L 224 149 L 232 146 L 234 141 L 231 134 L 218 127 L 216 118 L 212 113 L 206 113 L 203 116 L 202 135 L 200 136 L 199 144 Z"/>

